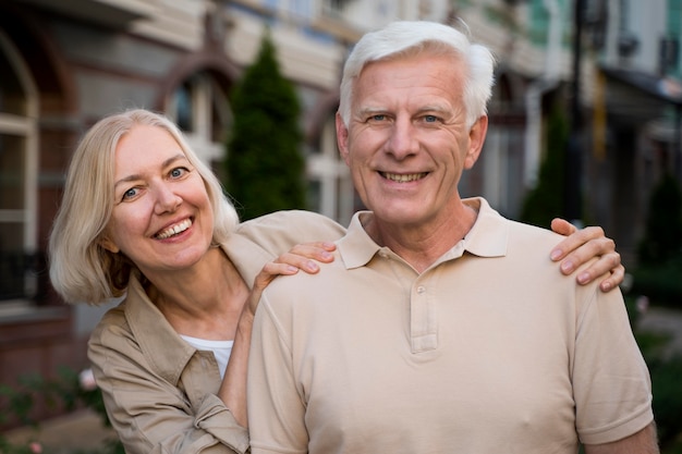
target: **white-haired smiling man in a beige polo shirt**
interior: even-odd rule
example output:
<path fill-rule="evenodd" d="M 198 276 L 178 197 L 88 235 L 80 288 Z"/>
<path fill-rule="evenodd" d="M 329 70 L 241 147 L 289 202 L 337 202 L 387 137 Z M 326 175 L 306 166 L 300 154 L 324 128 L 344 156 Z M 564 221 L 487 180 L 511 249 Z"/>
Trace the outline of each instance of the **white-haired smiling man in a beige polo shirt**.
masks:
<path fill-rule="evenodd" d="M 458 183 L 486 137 L 490 52 L 399 22 L 350 56 L 338 143 L 369 211 L 256 314 L 257 453 L 657 453 L 622 295 L 564 279 L 558 236 Z"/>

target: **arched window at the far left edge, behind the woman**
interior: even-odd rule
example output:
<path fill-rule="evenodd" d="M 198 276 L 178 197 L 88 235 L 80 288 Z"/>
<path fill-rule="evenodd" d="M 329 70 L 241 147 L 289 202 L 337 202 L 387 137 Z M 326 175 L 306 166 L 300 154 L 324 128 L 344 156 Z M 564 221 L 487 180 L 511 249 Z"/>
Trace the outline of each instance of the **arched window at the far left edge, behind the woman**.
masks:
<path fill-rule="evenodd" d="M 21 54 L 0 30 L 0 309 L 35 295 L 37 90 Z"/>

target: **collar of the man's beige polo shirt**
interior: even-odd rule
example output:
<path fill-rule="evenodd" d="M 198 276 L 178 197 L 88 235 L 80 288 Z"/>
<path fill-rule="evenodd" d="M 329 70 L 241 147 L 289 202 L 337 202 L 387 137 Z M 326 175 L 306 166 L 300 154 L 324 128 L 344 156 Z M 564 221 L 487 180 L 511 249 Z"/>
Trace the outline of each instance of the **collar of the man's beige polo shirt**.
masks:
<path fill-rule="evenodd" d="M 463 251 L 478 257 L 504 256 L 509 242 L 509 221 L 490 208 L 483 197 L 465 198 L 462 201 L 478 212 L 476 222 L 464 240 L 437 261 L 461 257 Z M 351 220 L 348 233 L 338 243 L 339 253 L 349 269 L 367 265 L 382 249 L 363 228 L 363 224 L 367 223 L 373 216 L 372 211 L 356 212 Z"/>

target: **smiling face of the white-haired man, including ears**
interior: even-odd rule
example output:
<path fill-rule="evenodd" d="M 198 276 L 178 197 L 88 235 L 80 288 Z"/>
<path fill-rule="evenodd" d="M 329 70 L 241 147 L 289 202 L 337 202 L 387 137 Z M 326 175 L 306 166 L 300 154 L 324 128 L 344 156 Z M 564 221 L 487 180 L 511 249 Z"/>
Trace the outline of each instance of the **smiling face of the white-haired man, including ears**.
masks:
<path fill-rule="evenodd" d="M 337 115 L 339 148 L 355 188 L 378 220 L 447 222 L 463 169 L 476 161 L 487 118 L 466 127 L 464 64 L 422 54 L 369 63 L 355 83 L 351 119 Z"/>

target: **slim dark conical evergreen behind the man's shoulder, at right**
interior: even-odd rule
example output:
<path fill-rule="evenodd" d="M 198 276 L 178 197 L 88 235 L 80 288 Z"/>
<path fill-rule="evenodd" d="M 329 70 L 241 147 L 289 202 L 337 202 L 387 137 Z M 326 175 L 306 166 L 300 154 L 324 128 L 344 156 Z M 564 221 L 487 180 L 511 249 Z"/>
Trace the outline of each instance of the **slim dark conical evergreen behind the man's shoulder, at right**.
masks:
<path fill-rule="evenodd" d="M 556 105 L 548 118 L 547 150 L 539 169 L 537 185 L 523 201 L 521 221 L 547 228 L 551 220 L 564 212 L 565 147 L 569 138 L 568 120 Z"/>

